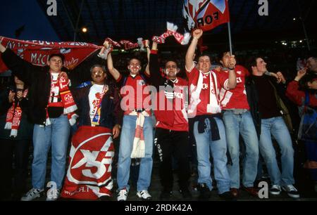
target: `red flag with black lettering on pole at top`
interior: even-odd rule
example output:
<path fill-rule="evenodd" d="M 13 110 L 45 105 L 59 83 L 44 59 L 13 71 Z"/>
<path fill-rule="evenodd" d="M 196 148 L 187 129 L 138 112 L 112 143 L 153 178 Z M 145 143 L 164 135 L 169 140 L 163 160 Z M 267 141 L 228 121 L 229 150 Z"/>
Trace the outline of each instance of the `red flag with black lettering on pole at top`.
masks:
<path fill-rule="evenodd" d="M 228 0 L 185 0 L 183 15 L 189 30 L 196 27 L 208 31 L 230 22 Z"/>

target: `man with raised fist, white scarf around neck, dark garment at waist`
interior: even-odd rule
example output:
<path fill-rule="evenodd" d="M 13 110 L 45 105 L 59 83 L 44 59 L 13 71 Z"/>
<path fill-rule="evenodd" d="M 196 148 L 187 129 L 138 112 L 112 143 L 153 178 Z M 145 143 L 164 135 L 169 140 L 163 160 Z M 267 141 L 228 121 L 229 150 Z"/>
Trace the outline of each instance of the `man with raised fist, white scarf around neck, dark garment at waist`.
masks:
<path fill-rule="evenodd" d="M 232 199 L 230 177 L 227 169 L 227 143 L 225 127 L 220 118 L 220 89 L 234 89 L 235 60 L 230 57 L 229 72 L 210 70 L 211 59 L 202 55 L 197 68 L 193 56 L 202 30 L 194 30 L 192 43 L 186 54 L 186 70 L 189 79 L 189 117 L 194 117 L 194 138 L 197 143 L 198 183 L 202 200 L 208 200 L 212 189 L 210 151 L 220 197 Z"/>

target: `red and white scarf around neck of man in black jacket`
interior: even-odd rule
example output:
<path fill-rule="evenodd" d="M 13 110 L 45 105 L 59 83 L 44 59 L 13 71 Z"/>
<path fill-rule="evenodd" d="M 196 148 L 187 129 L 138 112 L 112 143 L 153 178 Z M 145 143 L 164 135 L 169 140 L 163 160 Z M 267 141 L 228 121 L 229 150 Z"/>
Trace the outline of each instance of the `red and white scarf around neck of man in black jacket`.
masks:
<path fill-rule="evenodd" d="M 51 103 L 51 100 L 49 100 L 47 107 L 63 107 L 63 114 L 67 115 L 70 125 L 74 125 L 78 117 L 78 115 L 75 114 L 75 110 L 77 110 L 77 105 L 74 101 L 72 93 L 68 89 L 68 84 L 70 84 L 70 80 L 67 77 L 58 76 L 56 83 L 54 83 L 51 79 L 51 89 L 53 89 L 54 87 L 58 87 L 58 96 L 61 97 L 61 102 Z M 46 126 L 51 124 L 51 121 L 49 119 L 49 112 L 47 110 L 48 108 L 46 108 Z"/>

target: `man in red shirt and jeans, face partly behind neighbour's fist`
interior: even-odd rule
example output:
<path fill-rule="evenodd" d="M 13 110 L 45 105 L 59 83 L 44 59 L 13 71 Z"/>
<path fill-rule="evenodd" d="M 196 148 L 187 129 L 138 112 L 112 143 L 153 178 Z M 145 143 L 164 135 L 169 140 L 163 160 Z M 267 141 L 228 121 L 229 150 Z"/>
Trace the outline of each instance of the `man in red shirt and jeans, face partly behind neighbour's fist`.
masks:
<path fill-rule="evenodd" d="M 221 72 L 228 72 L 230 53 L 220 54 Z M 259 160 L 259 140 L 256 135 L 254 122 L 249 112 L 249 103 L 244 86 L 244 78 L 249 75 L 246 68 L 241 65 L 235 66 L 237 86 L 235 89 L 220 91 L 220 103 L 223 111 L 223 123 L 225 124 L 225 136 L 227 138 L 228 151 L 231 162 L 228 164 L 230 175 L 230 191 L 232 195 L 239 195 L 240 188 L 240 166 L 239 166 L 239 135 L 241 134 L 245 145 L 245 156 L 243 161 L 242 184 L 244 190 L 253 196 L 258 196 L 254 181 L 257 174 Z"/>

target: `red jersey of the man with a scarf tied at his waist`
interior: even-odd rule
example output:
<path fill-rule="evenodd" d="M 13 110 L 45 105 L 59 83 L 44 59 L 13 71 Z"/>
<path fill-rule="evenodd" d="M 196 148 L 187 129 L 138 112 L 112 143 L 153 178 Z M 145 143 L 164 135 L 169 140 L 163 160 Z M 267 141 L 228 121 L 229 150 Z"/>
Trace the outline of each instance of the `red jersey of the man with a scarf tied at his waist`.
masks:
<path fill-rule="evenodd" d="M 121 108 L 125 111 L 125 115 L 129 115 L 133 110 L 143 109 L 149 110 L 148 113 L 151 115 L 151 96 L 141 75 L 124 77 L 120 74 L 117 83 L 122 86 L 120 94 L 122 96 L 121 105 L 123 106 Z"/>

